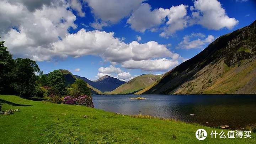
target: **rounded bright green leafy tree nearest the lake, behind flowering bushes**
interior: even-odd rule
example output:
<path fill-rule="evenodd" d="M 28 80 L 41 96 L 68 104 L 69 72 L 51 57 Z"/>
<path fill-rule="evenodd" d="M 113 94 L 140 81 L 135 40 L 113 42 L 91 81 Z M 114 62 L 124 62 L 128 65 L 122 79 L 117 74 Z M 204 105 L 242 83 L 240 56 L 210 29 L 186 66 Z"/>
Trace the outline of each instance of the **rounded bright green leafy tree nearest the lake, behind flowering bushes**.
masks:
<path fill-rule="evenodd" d="M 74 84 L 71 85 L 71 95 L 72 96 L 79 96 L 79 95 L 91 95 L 90 89 L 87 87 L 87 84 L 82 79 L 76 79 Z"/>

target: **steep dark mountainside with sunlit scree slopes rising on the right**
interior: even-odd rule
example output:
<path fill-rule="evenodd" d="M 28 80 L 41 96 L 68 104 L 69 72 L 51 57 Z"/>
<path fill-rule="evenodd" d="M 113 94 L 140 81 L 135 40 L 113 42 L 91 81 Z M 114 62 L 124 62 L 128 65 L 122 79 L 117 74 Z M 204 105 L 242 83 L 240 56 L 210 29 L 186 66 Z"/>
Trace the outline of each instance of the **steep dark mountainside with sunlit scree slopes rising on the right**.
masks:
<path fill-rule="evenodd" d="M 256 21 L 217 38 L 137 94 L 255 94 Z"/>

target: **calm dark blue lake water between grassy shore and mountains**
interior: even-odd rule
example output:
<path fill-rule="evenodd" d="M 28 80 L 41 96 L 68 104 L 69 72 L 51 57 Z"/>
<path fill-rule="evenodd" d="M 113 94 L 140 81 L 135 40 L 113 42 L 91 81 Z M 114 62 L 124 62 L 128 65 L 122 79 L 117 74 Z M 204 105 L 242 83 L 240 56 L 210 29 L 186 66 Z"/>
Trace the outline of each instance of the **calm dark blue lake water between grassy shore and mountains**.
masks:
<path fill-rule="evenodd" d="M 232 129 L 256 123 L 256 95 L 94 95 L 95 108 L 125 115 L 142 113 Z M 197 116 L 190 116 L 196 114 Z"/>

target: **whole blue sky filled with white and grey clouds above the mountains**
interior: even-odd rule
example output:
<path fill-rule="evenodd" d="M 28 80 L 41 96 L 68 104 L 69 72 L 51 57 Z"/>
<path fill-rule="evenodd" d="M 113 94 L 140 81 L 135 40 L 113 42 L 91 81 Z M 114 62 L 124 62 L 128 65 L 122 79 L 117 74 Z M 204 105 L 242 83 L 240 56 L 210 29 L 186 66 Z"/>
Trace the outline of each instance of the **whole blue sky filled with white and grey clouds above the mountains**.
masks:
<path fill-rule="evenodd" d="M 0 37 L 44 73 L 163 74 L 256 20 L 255 0 L 0 0 Z"/>

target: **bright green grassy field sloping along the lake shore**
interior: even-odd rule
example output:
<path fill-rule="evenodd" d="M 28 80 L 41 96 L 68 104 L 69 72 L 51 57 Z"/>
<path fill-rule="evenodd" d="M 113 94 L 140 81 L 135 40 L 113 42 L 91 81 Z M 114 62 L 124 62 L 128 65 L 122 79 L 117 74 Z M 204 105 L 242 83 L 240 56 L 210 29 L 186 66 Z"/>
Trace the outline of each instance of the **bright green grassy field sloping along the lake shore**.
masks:
<path fill-rule="evenodd" d="M 32 101 L 0 95 L 0 143 L 256 143 L 252 138 L 212 139 L 210 132 L 222 130 L 178 121 L 133 118 L 77 105 Z M 149 117 L 150 118 L 150 117 Z M 208 136 L 199 141 L 197 129 Z M 227 133 L 227 130 L 224 130 Z"/>

